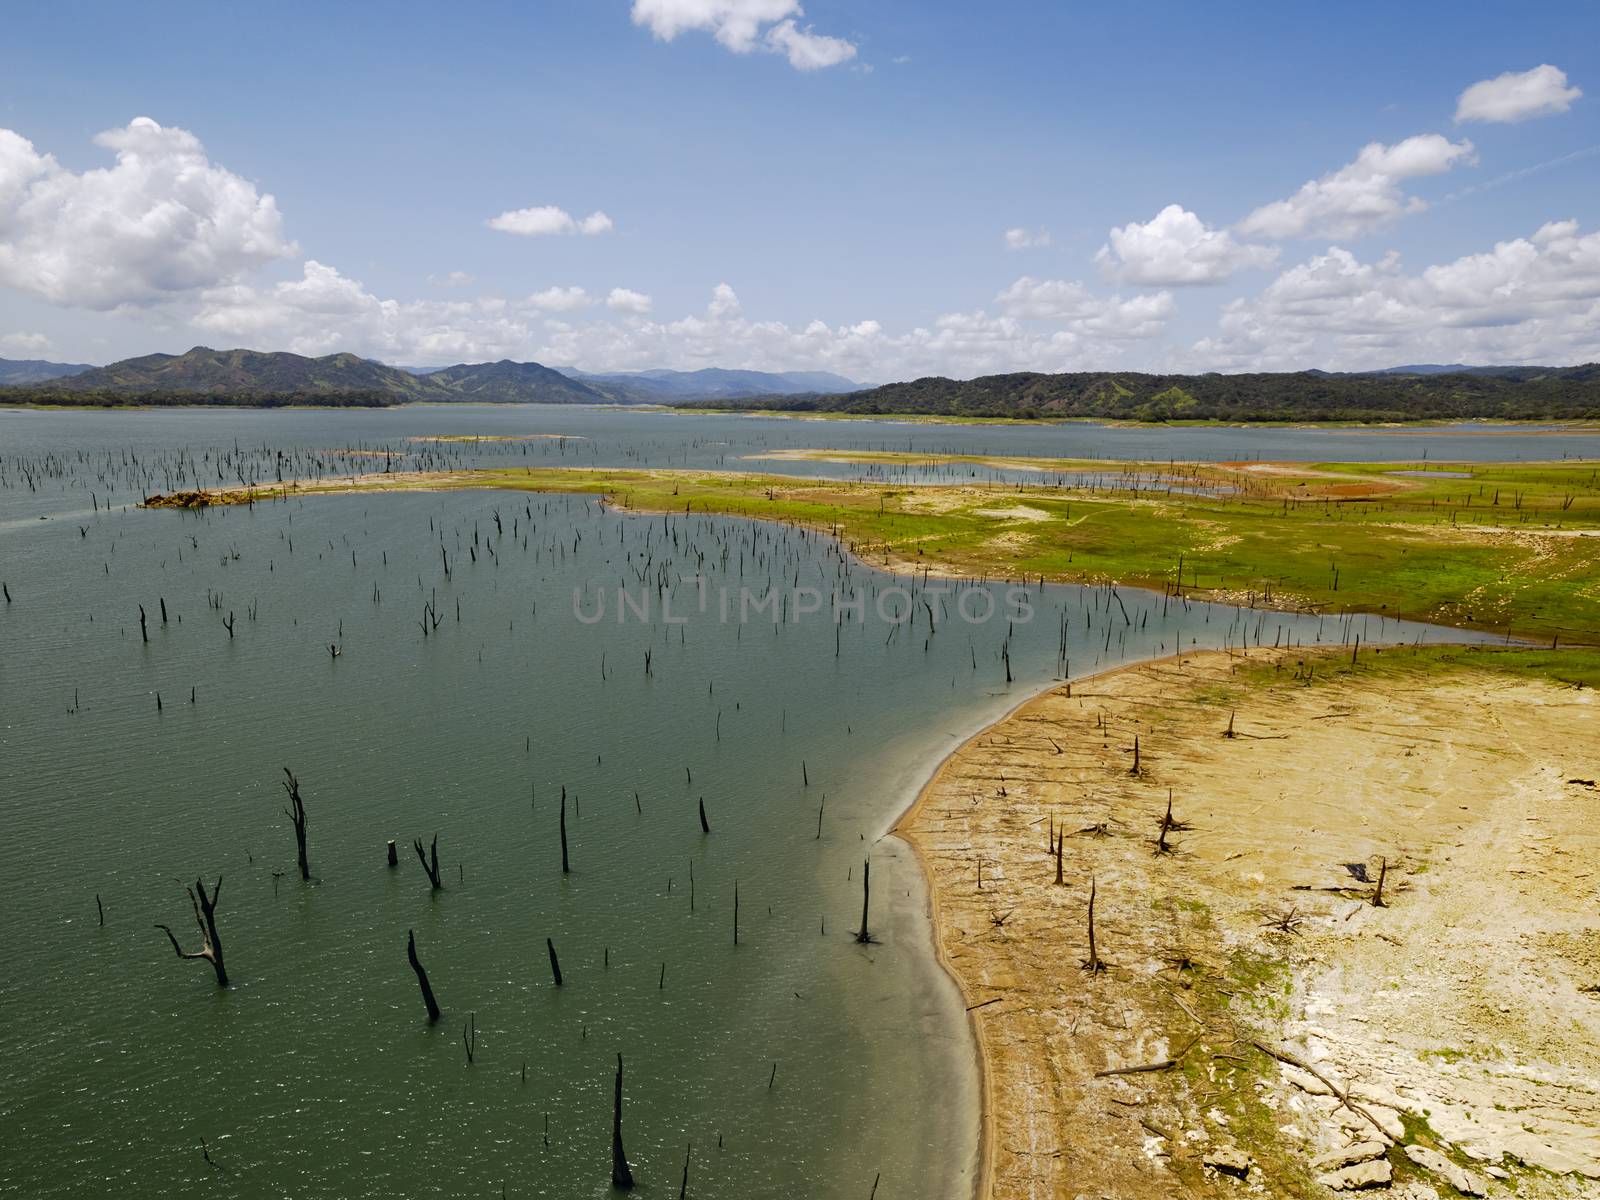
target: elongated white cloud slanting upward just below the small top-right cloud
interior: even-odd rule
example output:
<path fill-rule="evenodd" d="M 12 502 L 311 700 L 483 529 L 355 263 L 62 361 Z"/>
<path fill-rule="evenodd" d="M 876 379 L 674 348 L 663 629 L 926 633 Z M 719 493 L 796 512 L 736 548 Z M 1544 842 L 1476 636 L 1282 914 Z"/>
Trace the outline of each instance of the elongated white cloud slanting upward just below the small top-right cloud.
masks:
<path fill-rule="evenodd" d="M 1394 146 L 1371 142 L 1362 147 L 1355 162 L 1312 179 L 1286 200 L 1258 208 L 1238 222 L 1238 232 L 1272 238 L 1365 237 L 1406 213 L 1427 208 L 1421 197 L 1402 190 L 1405 179 L 1440 174 L 1472 162 L 1477 162 L 1472 142 L 1453 142 L 1437 133 L 1422 133 Z"/>

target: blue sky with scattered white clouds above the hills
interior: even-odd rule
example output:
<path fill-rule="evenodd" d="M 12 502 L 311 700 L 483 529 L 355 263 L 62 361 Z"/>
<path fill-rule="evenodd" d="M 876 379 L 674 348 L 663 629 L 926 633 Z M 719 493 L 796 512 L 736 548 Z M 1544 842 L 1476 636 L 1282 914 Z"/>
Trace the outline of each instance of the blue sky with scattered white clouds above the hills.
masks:
<path fill-rule="evenodd" d="M 1589 3 L 27 6 L 0 355 L 1600 358 L 1595 46 Z"/>

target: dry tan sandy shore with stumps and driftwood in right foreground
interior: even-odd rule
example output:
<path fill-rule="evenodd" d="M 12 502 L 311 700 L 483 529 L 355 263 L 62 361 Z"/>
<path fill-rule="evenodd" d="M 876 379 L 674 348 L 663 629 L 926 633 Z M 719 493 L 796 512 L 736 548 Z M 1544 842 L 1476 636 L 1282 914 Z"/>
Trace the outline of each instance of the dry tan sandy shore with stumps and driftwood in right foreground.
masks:
<path fill-rule="evenodd" d="M 990 1195 L 1600 1195 L 1600 699 L 1408 654 L 1112 672 L 928 784 Z"/>

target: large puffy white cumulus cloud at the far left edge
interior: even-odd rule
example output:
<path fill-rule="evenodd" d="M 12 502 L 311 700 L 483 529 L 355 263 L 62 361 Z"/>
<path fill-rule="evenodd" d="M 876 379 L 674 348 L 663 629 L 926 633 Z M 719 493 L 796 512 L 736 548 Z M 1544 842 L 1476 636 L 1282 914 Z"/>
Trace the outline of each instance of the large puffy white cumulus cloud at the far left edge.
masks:
<path fill-rule="evenodd" d="M 0 130 L 0 283 L 83 309 L 150 306 L 290 256 L 277 203 L 187 130 L 138 117 L 70 171 Z"/>

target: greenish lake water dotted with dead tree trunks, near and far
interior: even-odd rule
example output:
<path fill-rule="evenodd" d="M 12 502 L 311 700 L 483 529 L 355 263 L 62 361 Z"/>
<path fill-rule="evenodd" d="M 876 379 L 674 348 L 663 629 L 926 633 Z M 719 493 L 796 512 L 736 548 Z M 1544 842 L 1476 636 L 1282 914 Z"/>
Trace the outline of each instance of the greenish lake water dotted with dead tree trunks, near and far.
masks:
<path fill-rule="evenodd" d="M 405 442 L 528 432 L 566 440 Z M 1430 635 L 1131 589 L 941 595 L 819 536 L 565 496 L 125 507 L 174 474 L 270 478 L 310 451 L 336 469 L 363 459 L 322 451 L 379 445 L 701 469 L 786 446 L 1600 456 L 1594 435 L 1448 430 L 0 411 L 0 1194 L 600 1197 L 622 1053 L 645 1195 L 675 1194 L 693 1144 L 693 1197 L 866 1197 L 880 1174 L 880 1200 L 965 1197 L 973 1050 L 920 874 L 883 837 L 936 762 L 1064 669 L 1179 642 Z M 821 611 L 798 611 L 813 592 Z M 768 594 L 776 622 L 757 606 Z M 666 619 L 666 598 L 686 619 Z M 310 816 L 310 883 L 285 766 Z M 437 893 L 411 851 L 434 834 Z M 867 856 L 877 942 L 858 946 Z M 219 874 L 226 992 L 154 928 L 192 947 L 184 883 Z M 445 1010 L 432 1027 L 408 930 Z"/>

